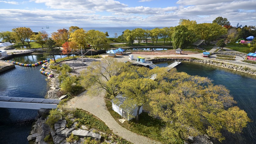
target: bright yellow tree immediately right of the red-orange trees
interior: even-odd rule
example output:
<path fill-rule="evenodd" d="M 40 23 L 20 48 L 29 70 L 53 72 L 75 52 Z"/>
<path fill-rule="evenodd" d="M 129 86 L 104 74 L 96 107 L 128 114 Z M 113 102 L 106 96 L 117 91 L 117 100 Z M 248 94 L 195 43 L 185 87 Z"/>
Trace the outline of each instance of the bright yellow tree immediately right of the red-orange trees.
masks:
<path fill-rule="evenodd" d="M 79 47 L 86 48 L 88 45 L 86 31 L 82 28 L 74 31 L 70 34 L 69 40 L 71 42 L 75 42 Z"/>

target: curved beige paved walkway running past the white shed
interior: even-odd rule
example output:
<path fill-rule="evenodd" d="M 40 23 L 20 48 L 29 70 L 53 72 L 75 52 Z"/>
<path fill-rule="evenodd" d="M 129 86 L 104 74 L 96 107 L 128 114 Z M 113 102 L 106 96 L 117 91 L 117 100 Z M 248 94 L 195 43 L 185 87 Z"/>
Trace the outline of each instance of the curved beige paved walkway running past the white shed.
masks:
<path fill-rule="evenodd" d="M 88 96 L 86 92 L 83 92 L 75 98 L 72 98 L 68 102 L 68 105 L 71 108 L 83 109 L 97 116 L 99 119 L 105 122 L 110 130 L 113 130 L 114 134 L 128 140 L 129 142 L 134 144 L 161 144 L 160 142 L 155 142 L 149 138 L 137 135 L 121 127 L 107 110 L 104 96 L 105 91 L 102 91 L 98 96 L 94 97 Z"/>

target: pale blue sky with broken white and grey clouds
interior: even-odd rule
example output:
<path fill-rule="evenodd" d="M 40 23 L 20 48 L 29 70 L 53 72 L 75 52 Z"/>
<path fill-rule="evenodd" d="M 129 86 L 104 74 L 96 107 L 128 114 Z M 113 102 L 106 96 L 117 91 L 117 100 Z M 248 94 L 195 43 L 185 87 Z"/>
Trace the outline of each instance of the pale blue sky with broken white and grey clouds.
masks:
<path fill-rule="evenodd" d="M 0 26 L 170 27 L 180 19 L 256 23 L 256 0 L 0 0 Z"/>

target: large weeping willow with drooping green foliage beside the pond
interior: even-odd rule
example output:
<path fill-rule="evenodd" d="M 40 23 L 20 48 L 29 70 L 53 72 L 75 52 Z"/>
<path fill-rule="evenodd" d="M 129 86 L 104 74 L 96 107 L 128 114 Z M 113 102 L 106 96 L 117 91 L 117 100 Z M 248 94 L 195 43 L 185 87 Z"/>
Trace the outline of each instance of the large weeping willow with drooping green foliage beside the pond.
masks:
<path fill-rule="evenodd" d="M 173 49 L 177 47 L 183 49 L 195 41 L 196 35 L 193 31 L 188 30 L 187 26 L 178 25 L 174 28 L 172 35 Z"/>

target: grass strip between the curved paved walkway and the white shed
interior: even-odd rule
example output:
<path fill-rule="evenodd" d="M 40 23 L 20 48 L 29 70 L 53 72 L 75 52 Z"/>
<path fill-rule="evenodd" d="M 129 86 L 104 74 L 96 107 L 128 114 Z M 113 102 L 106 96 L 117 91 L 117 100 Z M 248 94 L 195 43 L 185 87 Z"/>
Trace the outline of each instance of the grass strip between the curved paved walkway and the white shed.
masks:
<path fill-rule="evenodd" d="M 106 102 L 106 107 L 109 113 L 113 116 L 113 118 L 117 121 L 117 123 L 120 124 L 122 127 L 136 134 L 143 135 L 155 141 L 160 141 L 165 143 L 164 138 L 161 136 L 161 130 L 165 125 L 164 122 L 162 122 L 161 120 L 155 119 L 149 116 L 147 113 L 143 112 L 140 114 L 140 119 L 138 123 L 135 122 L 135 119 L 132 119 L 131 121 L 126 120 L 124 123 L 121 123 L 118 120 L 122 119 L 122 116 L 120 116 L 118 113 L 113 111 L 112 103 L 109 100 L 106 100 L 105 102 Z"/>

